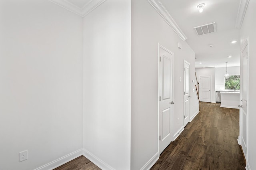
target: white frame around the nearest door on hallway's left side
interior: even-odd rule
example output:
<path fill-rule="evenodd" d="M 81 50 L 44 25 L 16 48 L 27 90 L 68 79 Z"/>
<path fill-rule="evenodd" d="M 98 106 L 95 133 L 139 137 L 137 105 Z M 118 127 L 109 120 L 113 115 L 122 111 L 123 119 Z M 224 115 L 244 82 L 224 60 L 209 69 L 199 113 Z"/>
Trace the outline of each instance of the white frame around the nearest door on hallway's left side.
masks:
<path fill-rule="evenodd" d="M 174 53 L 170 50 L 168 50 L 166 47 L 164 47 L 163 45 L 161 45 L 160 43 L 158 43 L 158 56 L 157 56 L 157 60 L 158 60 L 158 97 L 157 97 L 157 103 L 158 103 L 158 130 L 157 130 L 157 152 L 158 152 L 158 158 L 160 156 L 160 153 L 159 153 L 159 65 L 160 65 L 160 48 L 164 49 L 165 51 L 167 51 L 168 53 L 172 54 L 172 56 L 174 57 Z M 174 60 L 173 60 L 174 61 Z M 174 99 L 174 62 L 172 62 L 172 100 Z M 172 120 L 172 141 L 173 141 L 173 112 L 174 112 L 174 105 L 172 105 L 172 115 L 171 115 L 171 120 Z"/>

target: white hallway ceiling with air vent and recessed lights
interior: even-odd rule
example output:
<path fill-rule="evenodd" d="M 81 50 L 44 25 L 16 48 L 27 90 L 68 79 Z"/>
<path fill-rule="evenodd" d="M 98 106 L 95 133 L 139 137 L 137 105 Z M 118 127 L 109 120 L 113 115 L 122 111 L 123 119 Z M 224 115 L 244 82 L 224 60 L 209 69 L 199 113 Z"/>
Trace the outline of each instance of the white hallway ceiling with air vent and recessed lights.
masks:
<path fill-rule="evenodd" d="M 196 53 L 196 67 L 240 65 L 239 30 L 235 28 L 240 0 L 161 0 L 166 10 L 186 35 Z M 198 12 L 198 4 L 205 3 Z M 216 22 L 217 32 L 198 36 L 194 27 Z M 232 44 L 232 40 L 237 40 Z M 212 44 L 214 47 L 209 47 Z M 231 55 L 231 58 L 228 56 Z M 200 64 L 200 62 L 202 64 Z"/>

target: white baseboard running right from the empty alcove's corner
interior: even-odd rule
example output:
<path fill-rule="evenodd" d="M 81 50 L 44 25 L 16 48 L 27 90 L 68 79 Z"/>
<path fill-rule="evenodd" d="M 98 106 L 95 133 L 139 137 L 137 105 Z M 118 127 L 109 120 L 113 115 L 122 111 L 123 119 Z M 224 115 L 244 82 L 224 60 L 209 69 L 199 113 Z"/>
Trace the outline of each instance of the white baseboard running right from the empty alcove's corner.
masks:
<path fill-rule="evenodd" d="M 114 168 L 106 164 L 104 161 L 86 149 L 83 149 L 83 155 L 102 170 L 114 170 Z"/>

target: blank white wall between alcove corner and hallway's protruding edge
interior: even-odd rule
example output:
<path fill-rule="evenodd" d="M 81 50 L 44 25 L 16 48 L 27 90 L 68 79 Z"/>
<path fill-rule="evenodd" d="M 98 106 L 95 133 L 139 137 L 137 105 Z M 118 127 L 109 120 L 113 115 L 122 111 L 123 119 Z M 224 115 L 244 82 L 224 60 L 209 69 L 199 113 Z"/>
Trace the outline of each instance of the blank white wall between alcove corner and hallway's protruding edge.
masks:
<path fill-rule="evenodd" d="M 84 149 L 116 170 L 130 169 L 130 16 L 107 0 L 84 17 Z"/>

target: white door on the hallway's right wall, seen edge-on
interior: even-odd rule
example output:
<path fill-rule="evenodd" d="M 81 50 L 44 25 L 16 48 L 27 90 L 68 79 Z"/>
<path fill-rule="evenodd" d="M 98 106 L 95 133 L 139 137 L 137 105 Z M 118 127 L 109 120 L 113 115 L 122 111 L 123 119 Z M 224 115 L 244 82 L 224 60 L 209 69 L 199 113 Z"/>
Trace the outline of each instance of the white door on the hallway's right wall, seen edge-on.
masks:
<path fill-rule="evenodd" d="M 247 52 L 247 43 L 245 44 L 244 48 L 242 49 L 241 54 L 241 63 L 240 63 L 240 136 L 241 136 L 241 146 L 244 152 L 244 157 L 246 158 L 247 152 L 247 132 L 248 132 L 248 121 L 247 121 L 247 66 L 248 66 L 248 52 Z"/>

